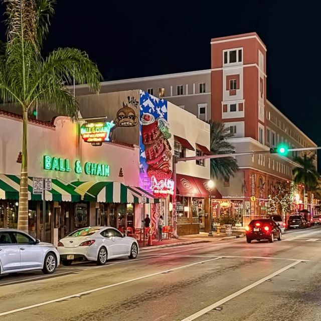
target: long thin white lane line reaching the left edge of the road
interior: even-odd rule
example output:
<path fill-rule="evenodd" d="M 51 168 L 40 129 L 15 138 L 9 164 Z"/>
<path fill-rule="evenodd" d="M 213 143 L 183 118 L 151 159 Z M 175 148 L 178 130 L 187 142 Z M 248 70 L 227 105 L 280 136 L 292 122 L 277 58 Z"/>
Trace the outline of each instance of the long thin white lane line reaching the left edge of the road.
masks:
<path fill-rule="evenodd" d="M 51 303 L 55 303 L 55 302 L 67 300 L 67 299 L 74 298 L 74 297 L 80 297 L 81 295 L 85 295 L 85 294 L 89 294 L 89 293 L 101 291 L 101 290 L 104 290 L 104 289 L 108 289 L 108 288 L 110 288 L 110 287 L 115 287 L 115 286 L 118 286 L 118 285 L 122 285 L 122 284 L 130 283 L 130 282 L 134 282 L 134 281 L 137 281 L 137 280 L 146 279 L 146 278 L 148 278 L 148 277 L 152 277 L 152 276 L 155 276 L 155 275 L 159 275 L 159 274 L 163 274 L 163 273 L 169 273 L 169 272 L 177 271 L 177 270 L 184 269 L 184 268 L 187 268 L 187 267 L 191 267 L 191 266 L 194 266 L 194 265 L 198 265 L 198 264 L 203 264 L 203 263 L 206 263 L 206 262 L 215 261 L 215 260 L 218 260 L 218 259 L 220 259 L 220 258 L 221 258 L 221 257 L 216 257 L 216 258 L 209 259 L 209 260 L 204 260 L 204 261 L 200 261 L 200 262 L 196 262 L 196 263 L 191 263 L 191 264 L 187 264 L 187 265 L 182 265 L 182 266 L 178 266 L 178 267 L 175 267 L 175 268 L 171 268 L 171 269 L 168 269 L 168 270 L 165 270 L 165 271 L 161 271 L 161 272 L 156 272 L 156 273 L 151 273 L 151 274 L 139 276 L 139 277 L 136 277 L 136 278 L 133 278 L 133 279 L 129 279 L 129 280 L 121 281 L 121 282 L 118 282 L 118 283 L 113 283 L 113 284 L 109 284 L 109 285 L 97 287 L 97 288 L 95 288 L 95 289 L 91 289 L 91 290 L 87 290 L 87 291 L 83 291 L 83 292 L 79 292 L 79 293 L 67 295 L 67 296 L 60 297 L 60 298 L 53 299 L 53 300 L 49 300 L 49 301 L 46 301 L 46 302 L 41 302 L 41 303 L 29 305 L 29 306 L 20 307 L 20 308 L 18 308 L 18 309 L 6 311 L 6 312 L 1 312 L 1 313 L 0 313 L 0 316 L 12 314 L 12 313 L 16 313 L 16 312 L 20 312 L 20 311 L 29 310 L 29 309 L 32 309 L 32 308 L 35 308 L 35 307 L 39 307 L 39 306 L 43 306 L 43 305 L 47 305 L 47 304 L 51 304 Z"/>

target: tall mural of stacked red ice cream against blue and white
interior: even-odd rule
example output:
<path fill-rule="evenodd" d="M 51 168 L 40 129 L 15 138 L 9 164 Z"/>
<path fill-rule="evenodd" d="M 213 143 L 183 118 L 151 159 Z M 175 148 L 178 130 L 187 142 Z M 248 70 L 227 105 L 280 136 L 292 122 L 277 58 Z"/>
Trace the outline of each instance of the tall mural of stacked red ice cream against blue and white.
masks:
<path fill-rule="evenodd" d="M 174 190 L 167 101 L 140 90 L 140 187 L 156 197 Z"/>

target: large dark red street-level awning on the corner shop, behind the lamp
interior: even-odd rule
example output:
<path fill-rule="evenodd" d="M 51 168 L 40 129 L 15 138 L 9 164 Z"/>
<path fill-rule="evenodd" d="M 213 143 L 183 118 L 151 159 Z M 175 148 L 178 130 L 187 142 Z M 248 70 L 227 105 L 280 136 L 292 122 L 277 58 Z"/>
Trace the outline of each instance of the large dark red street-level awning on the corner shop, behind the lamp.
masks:
<path fill-rule="evenodd" d="M 216 188 L 212 191 L 206 189 L 207 182 L 208 180 L 205 179 L 177 174 L 177 194 L 187 197 L 221 199 L 222 195 Z"/>

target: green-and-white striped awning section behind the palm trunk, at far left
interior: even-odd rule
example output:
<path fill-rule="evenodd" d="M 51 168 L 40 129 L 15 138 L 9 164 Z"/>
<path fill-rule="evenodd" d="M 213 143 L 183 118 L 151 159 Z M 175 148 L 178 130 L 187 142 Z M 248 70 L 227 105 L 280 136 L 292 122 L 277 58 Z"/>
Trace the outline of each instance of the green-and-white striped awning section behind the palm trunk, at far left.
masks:
<path fill-rule="evenodd" d="M 20 190 L 20 177 L 16 175 L 0 174 L 0 199 L 18 200 Z M 70 185 L 52 180 L 52 190 L 46 191 L 46 201 L 79 202 L 80 195 Z M 28 177 L 28 200 L 41 201 L 42 195 L 33 194 L 33 178 Z"/>

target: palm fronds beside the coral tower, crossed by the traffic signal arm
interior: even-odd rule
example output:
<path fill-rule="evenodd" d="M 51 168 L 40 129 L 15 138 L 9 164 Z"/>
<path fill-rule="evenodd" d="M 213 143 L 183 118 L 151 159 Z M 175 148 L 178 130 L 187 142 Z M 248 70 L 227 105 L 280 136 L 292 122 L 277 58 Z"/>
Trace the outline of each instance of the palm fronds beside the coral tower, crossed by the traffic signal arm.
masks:
<path fill-rule="evenodd" d="M 228 141 L 234 134 L 230 132 L 224 123 L 210 121 L 210 149 L 214 154 L 233 153 L 234 147 Z M 228 180 L 238 170 L 237 161 L 233 157 L 213 158 L 211 159 L 211 176 L 213 178 L 224 178 Z"/>

